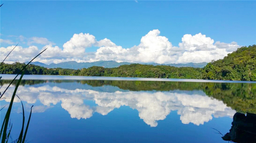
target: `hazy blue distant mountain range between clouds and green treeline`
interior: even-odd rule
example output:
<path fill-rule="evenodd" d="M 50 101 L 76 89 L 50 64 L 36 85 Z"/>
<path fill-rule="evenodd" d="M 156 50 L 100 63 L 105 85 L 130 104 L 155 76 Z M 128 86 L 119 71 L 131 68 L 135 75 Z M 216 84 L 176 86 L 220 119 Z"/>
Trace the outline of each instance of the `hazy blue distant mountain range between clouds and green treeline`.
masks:
<path fill-rule="evenodd" d="M 25 62 L 28 63 L 28 62 Z M 116 62 L 116 61 L 95 61 L 95 62 L 76 62 L 76 61 L 67 61 L 67 62 L 60 62 L 58 64 L 51 63 L 49 65 L 41 63 L 41 62 L 31 62 L 31 64 L 36 66 L 41 66 L 45 68 L 71 68 L 71 69 L 78 69 L 78 68 L 89 68 L 92 66 L 99 66 L 104 68 L 115 68 L 121 65 L 130 65 L 133 64 L 131 62 Z M 207 62 L 201 63 L 187 63 L 187 64 L 158 64 L 158 63 L 145 63 L 145 65 L 166 65 L 166 66 L 173 66 L 173 67 L 194 67 L 194 68 L 203 68 Z"/>

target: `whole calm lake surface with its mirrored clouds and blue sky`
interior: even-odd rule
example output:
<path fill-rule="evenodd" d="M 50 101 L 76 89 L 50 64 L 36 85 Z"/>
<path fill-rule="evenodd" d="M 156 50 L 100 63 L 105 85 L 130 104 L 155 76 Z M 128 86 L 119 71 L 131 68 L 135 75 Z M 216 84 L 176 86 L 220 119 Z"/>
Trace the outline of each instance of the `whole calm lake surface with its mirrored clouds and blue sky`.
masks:
<path fill-rule="evenodd" d="M 236 112 L 256 113 L 256 82 L 53 75 L 23 79 L 17 95 L 26 120 L 34 105 L 26 138 L 31 143 L 221 143 L 228 141 L 214 129 L 226 134 Z M 10 81 L 2 80 L 1 91 Z M 1 108 L 14 87 L 5 93 Z M 6 110 L 0 113 L 1 124 Z M 20 132 L 21 113 L 15 98 L 13 139 Z"/>

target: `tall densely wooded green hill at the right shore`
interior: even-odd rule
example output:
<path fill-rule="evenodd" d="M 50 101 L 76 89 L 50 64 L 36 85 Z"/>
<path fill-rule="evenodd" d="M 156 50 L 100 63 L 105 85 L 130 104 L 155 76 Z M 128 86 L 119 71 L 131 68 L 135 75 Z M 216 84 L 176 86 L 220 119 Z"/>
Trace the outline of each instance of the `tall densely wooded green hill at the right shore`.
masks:
<path fill-rule="evenodd" d="M 204 67 L 204 79 L 256 81 L 256 45 L 238 48 Z"/>

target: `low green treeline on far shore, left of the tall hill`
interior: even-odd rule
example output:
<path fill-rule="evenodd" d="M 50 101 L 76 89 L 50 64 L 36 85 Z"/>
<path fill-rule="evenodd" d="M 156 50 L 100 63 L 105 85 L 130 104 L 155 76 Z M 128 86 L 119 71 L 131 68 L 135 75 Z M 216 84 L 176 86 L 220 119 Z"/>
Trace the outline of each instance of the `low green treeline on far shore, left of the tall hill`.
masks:
<path fill-rule="evenodd" d="M 18 74 L 25 63 L 5 64 L 1 66 L 0 74 Z M 118 68 L 103 68 L 93 66 L 80 69 L 44 68 L 28 65 L 25 75 L 80 75 L 80 76 L 113 76 L 113 77 L 147 77 L 147 78 L 183 78 L 202 79 L 202 68 L 171 66 L 153 66 L 142 64 L 122 65 Z"/>

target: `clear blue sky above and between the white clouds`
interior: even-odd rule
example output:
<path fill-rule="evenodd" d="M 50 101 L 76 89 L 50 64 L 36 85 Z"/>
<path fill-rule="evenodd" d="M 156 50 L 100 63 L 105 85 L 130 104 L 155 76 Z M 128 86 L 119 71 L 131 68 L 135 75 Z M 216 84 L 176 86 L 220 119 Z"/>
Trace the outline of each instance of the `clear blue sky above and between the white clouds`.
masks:
<path fill-rule="evenodd" d="M 185 34 L 193 36 L 198 33 L 213 39 L 213 45 L 216 41 L 235 41 L 239 46 L 256 43 L 256 1 L 1 1 L 3 3 L 1 39 L 13 42 L 1 42 L 1 47 L 5 48 L 17 42 L 22 48 L 33 45 L 39 51 L 45 46 L 21 42 L 14 37 L 22 35 L 28 39 L 46 38 L 55 43 L 54 46 L 63 49 L 63 44 L 73 34 L 82 32 L 93 35 L 97 41 L 107 38 L 126 49 L 139 46 L 141 38 L 154 29 L 158 29 L 160 36 L 168 38 L 172 46 L 177 47 L 180 47 L 179 43 Z M 84 48 L 88 54 L 96 52 L 99 46 L 94 44 Z M 188 49 L 191 51 L 191 48 L 185 48 Z M 93 60 L 109 59 L 102 57 Z M 86 60 L 90 61 L 82 61 Z M 113 60 L 125 61 L 124 58 Z M 191 61 L 195 60 L 192 58 Z"/>

